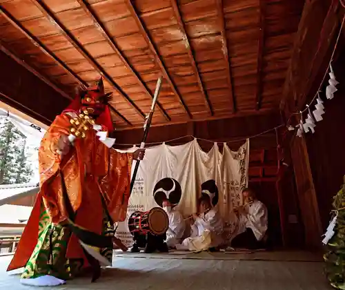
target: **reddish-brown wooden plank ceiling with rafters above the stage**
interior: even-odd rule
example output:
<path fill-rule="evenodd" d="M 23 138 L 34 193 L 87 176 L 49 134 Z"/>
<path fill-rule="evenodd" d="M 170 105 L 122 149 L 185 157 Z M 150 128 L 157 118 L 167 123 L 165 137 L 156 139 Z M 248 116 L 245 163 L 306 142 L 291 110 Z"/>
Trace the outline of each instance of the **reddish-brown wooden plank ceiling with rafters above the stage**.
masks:
<path fill-rule="evenodd" d="M 103 76 L 117 128 L 144 123 L 160 75 L 153 124 L 221 119 L 278 110 L 303 7 L 301 0 L 0 0 L 0 44 L 61 98 Z"/>

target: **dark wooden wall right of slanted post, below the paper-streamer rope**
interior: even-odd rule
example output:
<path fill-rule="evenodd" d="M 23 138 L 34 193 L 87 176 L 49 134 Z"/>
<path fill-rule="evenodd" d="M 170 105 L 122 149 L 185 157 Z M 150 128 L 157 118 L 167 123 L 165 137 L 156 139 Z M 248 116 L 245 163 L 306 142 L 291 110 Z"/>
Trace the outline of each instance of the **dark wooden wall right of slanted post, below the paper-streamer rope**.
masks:
<path fill-rule="evenodd" d="M 324 119 L 317 122 L 314 134 L 306 135 L 309 162 L 323 229 L 328 226 L 333 196 L 339 191 L 345 175 L 344 65 L 345 57 L 339 55 L 339 59 L 333 64 L 335 75 L 339 81 L 338 91 L 331 100 L 327 100 L 324 93 L 321 94 L 325 107 L 325 114 L 322 115 Z"/>

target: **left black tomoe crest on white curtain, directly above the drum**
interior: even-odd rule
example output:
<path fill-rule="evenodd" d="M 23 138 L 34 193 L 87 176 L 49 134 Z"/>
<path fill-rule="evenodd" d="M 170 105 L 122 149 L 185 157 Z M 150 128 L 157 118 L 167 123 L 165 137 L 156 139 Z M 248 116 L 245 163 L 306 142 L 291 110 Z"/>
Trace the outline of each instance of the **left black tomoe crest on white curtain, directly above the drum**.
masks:
<path fill-rule="evenodd" d="M 181 200 L 181 195 L 181 185 L 177 180 L 170 177 L 159 180 L 155 185 L 155 189 L 153 189 L 153 197 L 159 206 L 162 206 L 165 199 L 168 199 L 170 204 L 175 206 Z"/>

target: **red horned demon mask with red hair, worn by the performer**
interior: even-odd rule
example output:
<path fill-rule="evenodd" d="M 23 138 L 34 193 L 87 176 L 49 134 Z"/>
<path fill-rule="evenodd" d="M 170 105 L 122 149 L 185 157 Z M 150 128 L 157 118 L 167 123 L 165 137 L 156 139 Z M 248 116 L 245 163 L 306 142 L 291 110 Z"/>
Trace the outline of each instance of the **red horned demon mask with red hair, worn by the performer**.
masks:
<path fill-rule="evenodd" d="M 108 107 L 108 101 L 112 93 L 104 93 L 103 79 L 99 79 L 95 86 L 81 88 L 77 97 L 65 111 L 88 110 L 90 115 L 96 116 L 96 123 L 105 126 L 108 132 L 113 131 L 112 119 Z"/>

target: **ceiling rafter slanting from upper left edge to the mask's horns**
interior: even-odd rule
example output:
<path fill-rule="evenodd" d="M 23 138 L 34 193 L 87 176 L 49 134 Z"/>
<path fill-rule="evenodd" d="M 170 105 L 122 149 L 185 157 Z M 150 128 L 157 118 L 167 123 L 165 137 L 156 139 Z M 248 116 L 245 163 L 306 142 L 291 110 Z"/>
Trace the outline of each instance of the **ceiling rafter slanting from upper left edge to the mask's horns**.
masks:
<path fill-rule="evenodd" d="M 17 28 L 21 33 L 23 33 L 23 35 L 25 35 L 34 44 L 34 46 L 37 46 L 45 55 L 48 55 L 48 57 L 51 57 L 52 59 L 54 59 L 55 62 L 59 66 L 61 66 L 61 68 L 63 68 L 63 70 L 65 70 L 68 73 L 68 75 L 73 77 L 78 82 L 78 84 L 81 84 L 83 86 L 87 86 L 86 82 L 83 81 L 83 79 L 81 79 L 81 77 L 76 75 L 75 72 L 73 72 L 70 68 L 68 68 L 68 66 L 66 66 L 66 64 L 63 63 L 63 61 L 61 61 L 61 59 L 59 59 L 59 57 L 57 57 L 54 52 L 52 52 L 41 41 L 39 41 L 39 39 L 37 37 L 32 35 L 32 33 L 29 30 L 27 30 L 24 26 L 22 26 L 21 23 L 19 21 L 17 21 L 10 14 L 10 12 L 8 12 L 2 6 L 0 6 L 0 11 L 3 14 L 3 16 L 8 20 L 8 22 L 10 22 L 12 24 L 12 26 Z"/>

